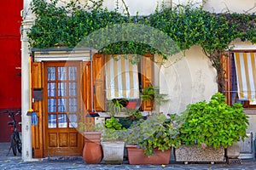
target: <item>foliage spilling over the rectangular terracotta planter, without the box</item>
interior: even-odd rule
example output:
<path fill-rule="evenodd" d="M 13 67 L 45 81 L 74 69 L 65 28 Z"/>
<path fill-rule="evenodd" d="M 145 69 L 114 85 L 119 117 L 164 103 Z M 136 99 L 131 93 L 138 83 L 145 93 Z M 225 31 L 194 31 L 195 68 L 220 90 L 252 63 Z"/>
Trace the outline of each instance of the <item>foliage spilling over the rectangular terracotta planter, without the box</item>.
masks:
<path fill-rule="evenodd" d="M 153 149 L 169 150 L 180 144 L 178 125 L 164 114 L 154 113 L 146 120 L 134 122 L 123 132 L 125 144 L 137 144 L 147 156 L 154 155 Z"/>

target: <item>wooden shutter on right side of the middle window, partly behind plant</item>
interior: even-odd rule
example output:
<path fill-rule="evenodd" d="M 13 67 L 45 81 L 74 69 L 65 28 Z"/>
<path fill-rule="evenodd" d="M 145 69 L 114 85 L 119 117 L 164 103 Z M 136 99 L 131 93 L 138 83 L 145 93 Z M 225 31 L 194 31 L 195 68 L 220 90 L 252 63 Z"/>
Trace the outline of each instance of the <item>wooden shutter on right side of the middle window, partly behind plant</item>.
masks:
<path fill-rule="evenodd" d="M 154 70 L 153 70 L 153 55 L 145 54 L 141 60 L 141 76 L 143 88 L 148 86 L 154 86 Z M 143 101 L 141 106 L 143 111 L 152 111 L 153 110 L 153 102 L 152 101 Z"/>

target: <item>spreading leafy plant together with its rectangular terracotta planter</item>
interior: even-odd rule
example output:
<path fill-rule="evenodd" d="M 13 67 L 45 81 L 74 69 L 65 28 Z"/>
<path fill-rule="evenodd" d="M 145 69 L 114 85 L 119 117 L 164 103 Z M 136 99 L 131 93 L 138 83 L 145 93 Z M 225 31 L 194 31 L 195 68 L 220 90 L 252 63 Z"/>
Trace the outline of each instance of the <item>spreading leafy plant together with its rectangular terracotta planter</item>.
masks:
<path fill-rule="evenodd" d="M 129 163 L 168 164 L 172 147 L 180 144 L 177 134 L 177 125 L 164 114 L 133 122 L 123 132 Z"/>

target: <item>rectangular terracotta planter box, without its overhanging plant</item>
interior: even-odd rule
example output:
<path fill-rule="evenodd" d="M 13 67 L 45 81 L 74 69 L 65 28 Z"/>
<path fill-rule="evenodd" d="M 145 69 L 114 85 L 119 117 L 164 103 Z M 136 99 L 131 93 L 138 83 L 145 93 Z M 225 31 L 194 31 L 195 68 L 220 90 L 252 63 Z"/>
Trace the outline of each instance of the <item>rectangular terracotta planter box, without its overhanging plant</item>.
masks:
<path fill-rule="evenodd" d="M 128 161 L 131 165 L 146 165 L 146 164 L 154 164 L 154 165 L 162 165 L 169 164 L 171 149 L 170 150 L 154 150 L 155 154 L 153 156 L 146 156 L 141 148 L 137 148 L 136 145 L 126 145 L 128 152 Z"/>

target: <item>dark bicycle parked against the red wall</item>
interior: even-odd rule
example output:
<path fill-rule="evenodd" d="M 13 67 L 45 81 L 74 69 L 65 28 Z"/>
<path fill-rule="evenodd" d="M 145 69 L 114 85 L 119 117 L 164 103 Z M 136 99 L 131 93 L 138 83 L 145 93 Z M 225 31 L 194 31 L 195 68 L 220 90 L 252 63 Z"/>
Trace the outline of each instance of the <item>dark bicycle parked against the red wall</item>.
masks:
<path fill-rule="evenodd" d="M 9 147 L 9 152 L 10 150 L 13 150 L 13 154 L 14 156 L 17 156 L 17 150 L 18 152 L 21 154 L 21 139 L 20 139 L 20 133 L 17 129 L 17 122 L 15 120 L 15 116 L 20 114 L 20 110 L 18 111 L 5 111 L 5 113 L 9 114 L 9 117 L 12 118 L 12 121 L 8 122 L 8 125 L 10 127 L 10 130 L 12 131 L 12 134 L 10 136 L 10 147 Z M 9 152 L 7 154 L 7 156 L 9 155 Z"/>

